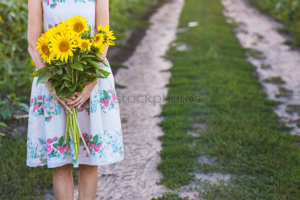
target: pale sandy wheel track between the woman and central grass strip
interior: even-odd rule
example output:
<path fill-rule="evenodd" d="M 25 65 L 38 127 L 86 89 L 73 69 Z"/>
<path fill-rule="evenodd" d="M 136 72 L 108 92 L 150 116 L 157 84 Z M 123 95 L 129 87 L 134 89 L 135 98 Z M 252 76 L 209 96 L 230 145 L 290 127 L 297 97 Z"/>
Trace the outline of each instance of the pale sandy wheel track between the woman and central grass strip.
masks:
<path fill-rule="evenodd" d="M 138 44 L 133 55 L 114 75 L 115 81 L 126 88 L 117 88 L 117 95 L 127 96 L 125 101 L 132 102 L 139 95 L 143 103 L 125 102 L 121 98 L 120 115 L 124 142 L 124 160 L 105 166 L 98 166 L 99 185 L 96 199 L 151 199 L 161 195 L 164 187 L 157 185 L 163 177 L 156 169 L 161 160 L 163 135 L 157 125 L 161 118 L 161 103 L 145 102 L 145 96 L 162 99 L 167 94 L 165 85 L 170 72 L 161 72 L 172 66 L 162 58 L 169 43 L 176 39 L 176 29 L 184 0 L 167 1 L 151 18 L 149 29 Z M 131 95 L 131 96 L 130 96 Z M 130 96 L 130 98 L 128 98 Z M 150 100 L 153 98 L 150 98 Z M 76 199 L 76 198 L 75 198 Z"/>

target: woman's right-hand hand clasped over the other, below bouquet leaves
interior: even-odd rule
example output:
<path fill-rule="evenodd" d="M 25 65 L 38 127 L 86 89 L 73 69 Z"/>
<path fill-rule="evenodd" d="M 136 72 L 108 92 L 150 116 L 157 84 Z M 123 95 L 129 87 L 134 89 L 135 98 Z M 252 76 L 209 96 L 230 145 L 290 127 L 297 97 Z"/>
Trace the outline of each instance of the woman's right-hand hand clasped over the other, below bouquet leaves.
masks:
<path fill-rule="evenodd" d="M 81 93 L 75 92 L 74 95 L 77 95 L 76 99 L 73 101 L 68 101 L 67 105 L 71 105 L 71 107 L 77 106 L 77 108 L 79 108 L 86 100 L 90 98 L 91 92 L 97 83 L 98 80 L 85 84 L 83 91 Z"/>

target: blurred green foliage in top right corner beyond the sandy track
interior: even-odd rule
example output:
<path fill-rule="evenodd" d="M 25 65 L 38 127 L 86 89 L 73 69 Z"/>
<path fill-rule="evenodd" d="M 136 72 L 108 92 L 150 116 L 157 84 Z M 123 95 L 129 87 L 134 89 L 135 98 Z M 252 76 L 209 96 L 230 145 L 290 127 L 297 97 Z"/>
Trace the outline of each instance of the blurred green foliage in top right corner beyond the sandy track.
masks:
<path fill-rule="evenodd" d="M 300 0 L 250 0 L 261 11 L 286 25 L 293 38 L 286 43 L 300 47 Z"/>

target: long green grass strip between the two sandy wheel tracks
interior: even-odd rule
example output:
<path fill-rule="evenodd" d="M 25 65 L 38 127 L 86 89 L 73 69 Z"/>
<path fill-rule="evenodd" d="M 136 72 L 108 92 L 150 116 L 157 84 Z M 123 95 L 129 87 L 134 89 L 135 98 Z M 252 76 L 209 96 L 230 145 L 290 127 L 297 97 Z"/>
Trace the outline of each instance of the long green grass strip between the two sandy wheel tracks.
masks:
<path fill-rule="evenodd" d="M 168 51 L 173 62 L 168 95 L 207 96 L 201 103 L 162 106 L 160 184 L 176 189 L 190 183 L 193 172 L 222 172 L 234 175 L 228 184 L 197 181 L 201 198 L 298 199 L 300 137 L 286 133 L 289 127 L 279 122 L 274 106 L 280 102 L 266 98 L 222 9 L 220 1 L 185 1 L 179 27 L 190 21 L 199 26 L 175 41 L 190 45 L 189 51 Z M 187 135 L 199 122 L 207 124 L 206 132 Z M 199 155 L 216 157 L 215 163 L 197 163 Z"/>

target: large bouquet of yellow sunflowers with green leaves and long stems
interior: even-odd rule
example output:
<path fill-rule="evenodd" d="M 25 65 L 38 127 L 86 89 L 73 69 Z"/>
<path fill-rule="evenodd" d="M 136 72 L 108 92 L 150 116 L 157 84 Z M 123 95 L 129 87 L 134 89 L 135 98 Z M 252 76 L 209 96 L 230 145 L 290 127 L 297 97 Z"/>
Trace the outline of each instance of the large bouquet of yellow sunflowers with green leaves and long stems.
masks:
<path fill-rule="evenodd" d="M 91 34 L 91 26 L 83 16 L 73 16 L 62 20 L 56 27 L 49 28 L 38 38 L 38 49 L 44 63 L 47 64 L 36 70 L 31 76 L 38 76 L 37 85 L 52 82 L 51 87 L 55 88 L 58 97 L 74 95 L 75 92 L 82 92 L 85 84 L 97 80 L 97 78 L 107 78 L 109 72 L 100 69 L 98 62 L 104 62 L 103 53 L 105 46 L 114 45 L 112 41 L 116 39 L 113 31 L 109 31 L 109 26 L 98 26 L 95 34 Z M 99 58 L 99 55 L 102 58 Z M 80 132 L 77 117 L 77 108 L 69 108 L 73 112 L 68 112 L 65 143 L 69 138 L 71 130 L 73 145 L 75 149 L 75 160 L 79 154 L 79 135 L 85 145 L 88 154 L 91 155 L 85 140 Z"/>

